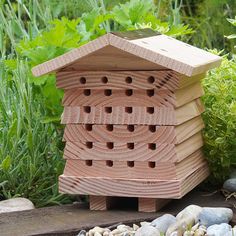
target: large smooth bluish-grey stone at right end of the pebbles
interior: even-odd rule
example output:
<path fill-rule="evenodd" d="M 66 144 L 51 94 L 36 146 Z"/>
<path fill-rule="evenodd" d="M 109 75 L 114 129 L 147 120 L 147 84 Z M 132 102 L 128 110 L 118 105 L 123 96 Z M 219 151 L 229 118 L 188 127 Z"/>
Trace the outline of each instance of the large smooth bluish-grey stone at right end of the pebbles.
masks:
<path fill-rule="evenodd" d="M 199 214 L 199 223 L 209 227 L 215 224 L 229 223 L 233 218 L 233 211 L 224 207 L 203 207 Z"/>

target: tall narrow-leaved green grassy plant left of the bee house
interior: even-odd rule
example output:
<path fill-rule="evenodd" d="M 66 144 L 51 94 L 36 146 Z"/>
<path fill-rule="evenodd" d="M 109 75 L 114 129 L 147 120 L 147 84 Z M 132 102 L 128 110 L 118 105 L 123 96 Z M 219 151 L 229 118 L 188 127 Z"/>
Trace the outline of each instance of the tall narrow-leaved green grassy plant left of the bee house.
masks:
<path fill-rule="evenodd" d="M 28 65 L 15 65 L 0 65 L 0 198 L 27 197 L 36 206 L 69 202 L 57 187 L 62 129 L 42 122 L 44 102 L 33 94 Z"/>

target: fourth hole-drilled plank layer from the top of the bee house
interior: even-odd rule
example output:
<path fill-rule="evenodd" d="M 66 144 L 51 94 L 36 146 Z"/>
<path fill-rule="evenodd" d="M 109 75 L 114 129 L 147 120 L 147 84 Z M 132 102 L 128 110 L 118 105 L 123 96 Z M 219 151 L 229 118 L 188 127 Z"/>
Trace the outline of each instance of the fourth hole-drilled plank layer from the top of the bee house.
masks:
<path fill-rule="evenodd" d="M 178 144 L 204 128 L 200 116 L 177 126 L 67 124 L 63 140 L 70 142 L 132 142 Z"/>

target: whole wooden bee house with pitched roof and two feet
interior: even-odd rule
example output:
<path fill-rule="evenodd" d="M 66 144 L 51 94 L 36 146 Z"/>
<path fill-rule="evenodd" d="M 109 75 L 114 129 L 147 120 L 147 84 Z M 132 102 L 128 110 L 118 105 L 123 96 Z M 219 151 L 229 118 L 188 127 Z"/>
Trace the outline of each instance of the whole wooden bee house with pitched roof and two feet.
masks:
<path fill-rule="evenodd" d="M 66 125 L 60 192 L 137 197 L 140 211 L 181 198 L 209 174 L 201 79 L 220 57 L 149 29 L 108 33 L 33 68 L 56 72 Z"/>

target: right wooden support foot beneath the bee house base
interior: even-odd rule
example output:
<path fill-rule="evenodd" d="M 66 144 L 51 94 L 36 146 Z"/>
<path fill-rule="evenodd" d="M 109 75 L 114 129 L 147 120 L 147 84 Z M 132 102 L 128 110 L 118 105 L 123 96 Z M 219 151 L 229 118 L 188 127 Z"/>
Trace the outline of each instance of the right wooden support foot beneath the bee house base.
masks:
<path fill-rule="evenodd" d="M 139 198 L 138 210 L 140 212 L 156 212 L 166 205 L 169 199 Z"/>

